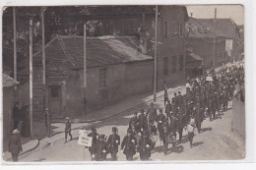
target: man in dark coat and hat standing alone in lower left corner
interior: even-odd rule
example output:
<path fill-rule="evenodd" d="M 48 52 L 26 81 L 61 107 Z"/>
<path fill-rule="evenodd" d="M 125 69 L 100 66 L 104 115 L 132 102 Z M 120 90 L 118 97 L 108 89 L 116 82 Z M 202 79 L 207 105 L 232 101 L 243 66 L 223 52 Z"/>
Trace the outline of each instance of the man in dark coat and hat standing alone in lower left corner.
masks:
<path fill-rule="evenodd" d="M 19 131 L 15 129 L 9 141 L 9 152 L 12 153 L 12 158 L 14 162 L 18 161 L 18 155 L 21 151 L 23 151 L 21 138 L 19 135 Z"/>

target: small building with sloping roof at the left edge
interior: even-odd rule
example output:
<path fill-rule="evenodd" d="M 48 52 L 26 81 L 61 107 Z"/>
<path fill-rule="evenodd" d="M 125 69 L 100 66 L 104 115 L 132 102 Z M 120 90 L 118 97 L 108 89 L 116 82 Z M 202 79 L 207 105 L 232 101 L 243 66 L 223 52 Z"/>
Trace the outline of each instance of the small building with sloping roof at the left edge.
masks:
<path fill-rule="evenodd" d="M 13 80 L 6 74 L 2 77 L 3 85 L 3 148 L 8 148 L 9 137 L 13 131 L 13 107 L 14 100 L 14 86 L 19 83 Z"/>

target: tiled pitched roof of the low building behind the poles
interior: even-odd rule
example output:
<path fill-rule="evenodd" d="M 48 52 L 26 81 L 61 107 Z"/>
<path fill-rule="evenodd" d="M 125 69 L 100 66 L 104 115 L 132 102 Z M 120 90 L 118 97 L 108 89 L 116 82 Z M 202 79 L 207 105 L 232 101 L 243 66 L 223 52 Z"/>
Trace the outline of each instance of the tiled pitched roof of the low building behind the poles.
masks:
<path fill-rule="evenodd" d="M 139 51 L 139 40 L 134 36 L 97 36 L 87 38 L 87 67 L 151 60 L 152 56 Z M 65 75 L 64 72 L 84 68 L 84 37 L 57 35 L 45 45 L 46 75 Z M 29 61 L 20 75 L 29 74 Z M 41 51 L 33 55 L 33 66 L 41 66 Z"/>

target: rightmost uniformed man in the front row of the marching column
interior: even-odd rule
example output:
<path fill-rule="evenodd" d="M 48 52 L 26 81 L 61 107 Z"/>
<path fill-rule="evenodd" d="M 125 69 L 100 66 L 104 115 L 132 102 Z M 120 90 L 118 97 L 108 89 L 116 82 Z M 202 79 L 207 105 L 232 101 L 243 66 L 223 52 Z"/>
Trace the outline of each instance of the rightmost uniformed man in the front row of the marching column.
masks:
<path fill-rule="evenodd" d="M 141 160 L 149 160 L 151 157 L 152 141 L 147 132 L 143 133 L 143 138 L 138 142 L 137 151 L 140 152 Z"/>

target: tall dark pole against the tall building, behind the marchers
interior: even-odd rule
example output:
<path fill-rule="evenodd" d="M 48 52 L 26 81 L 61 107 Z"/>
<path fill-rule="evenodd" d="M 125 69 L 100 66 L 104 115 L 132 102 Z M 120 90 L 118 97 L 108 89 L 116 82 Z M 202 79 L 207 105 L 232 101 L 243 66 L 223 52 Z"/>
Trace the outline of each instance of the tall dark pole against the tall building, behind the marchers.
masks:
<path fill-rule="evenodd" d="M 155 69 L 154 69 L 154 102 L 157 101 L 157 69 L 158 69 L 158 18 L 159 10 L 158 5 L 156 5 L 156 26 L 155 26 Z"/>

